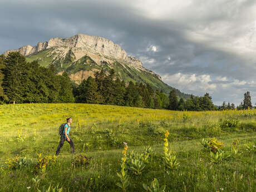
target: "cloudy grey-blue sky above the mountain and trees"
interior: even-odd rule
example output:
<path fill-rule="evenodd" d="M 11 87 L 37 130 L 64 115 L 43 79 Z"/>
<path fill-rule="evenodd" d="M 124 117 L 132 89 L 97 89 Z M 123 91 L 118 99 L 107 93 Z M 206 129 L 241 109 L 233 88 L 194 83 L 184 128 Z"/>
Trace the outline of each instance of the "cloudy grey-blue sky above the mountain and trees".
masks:
<path fill-rule="evenodd" d="M 83 33 L 119 44 L 185 93 L 256 102 L 256 1 L 0 0 L 0 53 Z"/>

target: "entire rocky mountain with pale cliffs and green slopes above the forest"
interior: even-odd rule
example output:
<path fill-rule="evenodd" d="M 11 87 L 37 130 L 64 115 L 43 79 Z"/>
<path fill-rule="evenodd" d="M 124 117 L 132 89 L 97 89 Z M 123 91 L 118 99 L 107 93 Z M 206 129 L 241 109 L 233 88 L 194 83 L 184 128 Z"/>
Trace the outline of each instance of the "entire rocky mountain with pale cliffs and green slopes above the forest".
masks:
<path fill-rule="evenodd" d="M 150 83 L 154 88 L 169 93 L 173 87 L 166 85 L 156 73 L 143 67 L 142 62 L 132 56 L 127 56 L 110 40 L 102 37 L 78 34 L 70 38 L 51 38 L 50 41 L 39 42 L 36 46 L 23 46 L 18 51 L 26 56 L 27 61 L 37 60 L 40 65 L 48 67 L 55 65 L 58 73 L 68 72 L 70 78 L 81 83 L 88 76 L 94 77 L 96 71 L 102 68 L 109 71 L 114 68 L 117 76 L 126 82 Z M 188 98 L 190 95 L 176 90 L 179 97 Z"/>

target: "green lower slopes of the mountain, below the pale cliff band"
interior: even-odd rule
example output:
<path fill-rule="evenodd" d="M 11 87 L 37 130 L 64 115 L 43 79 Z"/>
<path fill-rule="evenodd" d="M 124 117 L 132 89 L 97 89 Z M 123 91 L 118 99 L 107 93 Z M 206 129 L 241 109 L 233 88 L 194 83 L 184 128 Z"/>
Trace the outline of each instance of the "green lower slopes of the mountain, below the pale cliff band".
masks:
<path fill-rule="evenodd" d="M 89 55 L 94 58 L 100 58 L 100 62 L 96 62 Z M 91 53 L 85 54 L 77 59 L 72 49 L 62 52 L 60 51 L 60 47 L 53 47 L 33 55 L 29 55 L 26 58 L 28 62 L 37 60 L 38 63 L 44 67 L 48 67 L 53 64 L 58 73 L 66 71 L 70 75 L 71 79 L 78 84 L 88 76 L 93 76 L 95 71 L 100 71 L 103 68 L 107 73 L 111 68 L 114 68 L 116 75 L 127 83 L 129 81 L 134 83 L 149 83 L 155 89 L 163 90 L 166 94 L 169 94 L 169 92 L 173 90 L 173 87 L 161 81 L 159 76 L 152 71 L 146 70 L 144 67 L 132 66 L 130 63 L 102 56 L 97 53 L 94 53 L 93 55 Z M 182 93 L 177 89 L 175 90 L 178 97 L 183 97 L 184 99 L 188 99 L 190 97 L 189 94 Z"/>

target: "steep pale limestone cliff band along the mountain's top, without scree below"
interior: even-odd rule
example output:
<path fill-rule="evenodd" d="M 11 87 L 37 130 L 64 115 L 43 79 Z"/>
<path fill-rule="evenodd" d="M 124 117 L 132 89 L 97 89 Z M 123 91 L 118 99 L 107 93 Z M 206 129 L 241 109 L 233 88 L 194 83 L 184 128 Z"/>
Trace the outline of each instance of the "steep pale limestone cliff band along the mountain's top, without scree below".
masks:
<path fill-rule="evenodd" d="M 125 50 L 122 50 L 121 47 L 116 45 L 114 42 L 106 40 L 102 37 L 82 34 L 78 34 L 65 39 L 59 37 L 51 38 L 48 42 L 39 42 L 36 46 L 33 47 L 31 45 L 27 45 L 19 48 L 18 50 L 8 50 L 4 52 L 4 54 L 7 55 L 9 52 L 18 51 L 24 56 L 29 56 L 52 47 L 66 47 L 67 49 L 79 48 L 81 50 L 87 50 L 94 53 L 97 52 L 107 57 L 129 62 L 133 66 L 142 67 L 140 60 L 127 56 Z"/>

